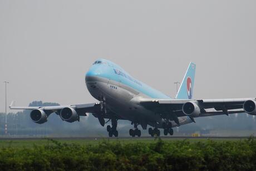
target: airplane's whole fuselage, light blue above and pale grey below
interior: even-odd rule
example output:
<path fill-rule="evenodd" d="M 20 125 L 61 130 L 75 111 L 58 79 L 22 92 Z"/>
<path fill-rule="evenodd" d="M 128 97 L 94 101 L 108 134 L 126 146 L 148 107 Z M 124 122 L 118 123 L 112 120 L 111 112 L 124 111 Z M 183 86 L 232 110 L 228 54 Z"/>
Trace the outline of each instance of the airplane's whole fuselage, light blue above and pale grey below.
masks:
<path fill-rule="evenodd" d="M 92 97 L 99 101 L 104 100 L 111 112 L 140 123 L 142 128 L 147 124 L 161 128 L 164 120 L 159 114 L 142 107 L 139 99 L 171 99 L 171 97 L 137 81 L 116 64 L 99 61 L 101 63 L 94 63 L 85 77 L 87 89 Z M 180 119 L 184 120 L 184 118 Z M 175 126 L 173 122 L 173 127 Z"/>

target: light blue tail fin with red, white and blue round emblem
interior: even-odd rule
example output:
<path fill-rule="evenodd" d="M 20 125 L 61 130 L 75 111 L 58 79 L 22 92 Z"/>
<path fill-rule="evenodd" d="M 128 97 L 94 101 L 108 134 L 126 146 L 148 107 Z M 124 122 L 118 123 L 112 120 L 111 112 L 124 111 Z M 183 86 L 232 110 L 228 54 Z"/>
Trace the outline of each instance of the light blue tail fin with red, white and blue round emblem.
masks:
<path fill-rule="evenodd" d="M 188 70 L 183 78 L 180 89 L 176 94 L 176 99 L 192 99 L 194 80 L 195 80 L 195 63 L 190 62 Z"/>

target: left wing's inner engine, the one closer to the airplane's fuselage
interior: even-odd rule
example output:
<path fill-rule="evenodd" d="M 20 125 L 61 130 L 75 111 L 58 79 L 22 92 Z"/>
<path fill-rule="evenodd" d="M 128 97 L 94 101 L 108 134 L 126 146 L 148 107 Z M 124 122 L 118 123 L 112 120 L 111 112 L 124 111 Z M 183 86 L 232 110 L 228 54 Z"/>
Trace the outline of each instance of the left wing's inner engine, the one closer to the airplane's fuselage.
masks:
<path fill-rule="evenodd" d="M 75 122 L 79 120 L 79 116 L 75 109 L 73 108 L 63 108 L 60 112 L 60 117 L 62 120 L 65 120 L 66 122 Z"/>

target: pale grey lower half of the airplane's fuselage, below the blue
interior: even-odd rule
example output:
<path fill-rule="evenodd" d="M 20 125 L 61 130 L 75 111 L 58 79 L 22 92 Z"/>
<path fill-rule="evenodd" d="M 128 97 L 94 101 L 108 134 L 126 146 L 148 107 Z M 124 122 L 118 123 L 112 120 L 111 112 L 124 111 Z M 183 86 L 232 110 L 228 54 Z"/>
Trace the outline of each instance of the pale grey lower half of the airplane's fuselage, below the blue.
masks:
<path fill-rule="evenodd" d="M 86 86 L 90 94 L 97 100 L 105 98 L 107 109 L 119 115 L 125 120 L 149 124 L 152 127 L 161 128 L 164 120 L 159 114 L 152 112 L 140 105 L 140 98 L 150 98 L 131 87 L 111 79 L 98 76 L 86 76 Z M 186 117 L 180 117 L 180 123 L 185 122 Z M 173 127 L 177 124 L 172 122 Z"/>

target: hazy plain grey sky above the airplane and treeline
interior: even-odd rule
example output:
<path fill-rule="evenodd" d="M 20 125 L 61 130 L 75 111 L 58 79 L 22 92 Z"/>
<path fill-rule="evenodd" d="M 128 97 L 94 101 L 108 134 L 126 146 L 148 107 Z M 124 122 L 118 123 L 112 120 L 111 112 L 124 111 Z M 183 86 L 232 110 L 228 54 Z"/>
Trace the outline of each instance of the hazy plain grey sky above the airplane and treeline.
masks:
<path fill-rule="evenodd" d="M 0 0 L 0 112 L 33 100 L 95 102 L 97 58 L 172 97 L 190 61 L 195 98 L 256 97 L 256 1 Z"/>

